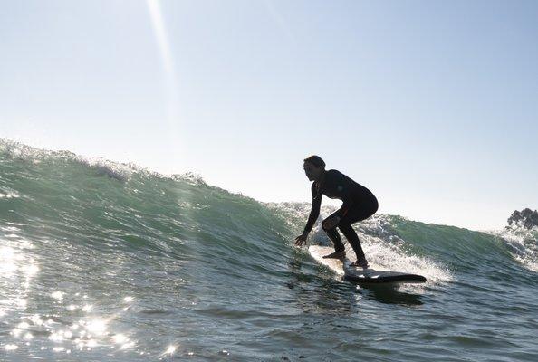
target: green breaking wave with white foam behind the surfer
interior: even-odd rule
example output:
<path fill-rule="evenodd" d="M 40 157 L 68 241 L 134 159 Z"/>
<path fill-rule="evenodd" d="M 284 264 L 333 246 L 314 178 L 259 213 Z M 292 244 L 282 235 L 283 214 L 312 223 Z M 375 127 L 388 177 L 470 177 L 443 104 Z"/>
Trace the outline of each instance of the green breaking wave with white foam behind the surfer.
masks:
<path fill-rule="evenodd" d="M 223 274 L 260 281 L 285 271 L 282 255 L 293 250 L 309 211 L 308 203 L 260 203 L 194 174 L 164 176 L 0 140 L 0 226 L 16 224 L 43 243 L 210 262 Z M 333 211 L 323 206 L 322 217 Z M 487 268 L 538 271 L 536 233 L 480 233 L 381 214 L 355 227 L 372 265 L 433 283 Z M 310 242 L 330 245 L 319 221 Z"/>

